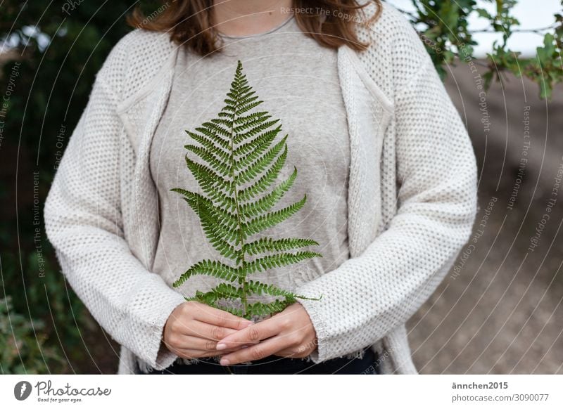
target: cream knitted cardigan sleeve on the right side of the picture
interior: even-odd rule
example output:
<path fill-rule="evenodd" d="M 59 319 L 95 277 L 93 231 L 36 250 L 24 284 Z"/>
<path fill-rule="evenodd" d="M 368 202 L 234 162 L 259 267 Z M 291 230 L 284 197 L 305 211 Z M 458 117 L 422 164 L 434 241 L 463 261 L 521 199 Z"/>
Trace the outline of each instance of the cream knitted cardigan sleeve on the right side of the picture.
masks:
<path fill-rule="evenodd" d="M 317 332 L 314 362 L 374 344 L 426 301 L 467 242 L 476 214 L 476 160 L 460 115 L 425 53 L 395 96 L 398 210 L 359 257 L 298 294 Z M 404 67 L 398 68 L 403 69 Z"/>

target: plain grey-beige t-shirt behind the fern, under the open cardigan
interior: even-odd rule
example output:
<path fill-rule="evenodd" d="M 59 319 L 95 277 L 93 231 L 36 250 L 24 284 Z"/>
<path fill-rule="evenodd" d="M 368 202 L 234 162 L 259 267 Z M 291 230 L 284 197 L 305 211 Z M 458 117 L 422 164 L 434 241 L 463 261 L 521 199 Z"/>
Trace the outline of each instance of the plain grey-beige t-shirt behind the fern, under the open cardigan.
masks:
<path fill-rule="evenodd" d="M 222 52 L 205 58 L 186 48 L 180 51 L 170 99 L 152 141 L 150 166 L 158 187 L 160 212 L 160 239 L 153 271 L 172 287 L 198 261 L 227 261 L 208 242 L 198 216 L 170 188 L 203 193 L 186 168 L 184 145 L 197 143 L 184 130 L 193 131 L 217 117 L 234 78 L 237 60 L 241 60 L 248 84 L 264 101 L 257 109 L 267 110 L 272 119 L 280 119 L 281 132 L 274 142 L 289 135 L 284 171 L 270 189 L 291 174 L 293 165 L 298 170 L 293 187 L 274 209 L 297 202 L 307 194 L 307 202 L 299 212 L 254 235 L 253 240 L 266 236 L 311 238 L 320 245 L 308 249 L 323 255 L 255 273 L 250 278 L 293 290 L 291 274 L 312 280 L 350 257 L 347 232 L 350 152 L 336 51 L 303 34 L 293 16 L 266 33 L 222 38 Z M 189 156 L 196 159 L 192 152 Z M 191 297 L 196 290 L 207 292 L 219 283 L 222 280 L 218 278 L 194 275 L 179 290 Z M 253 298 L 258 299 L 273 301 L 267 296 Z"/>

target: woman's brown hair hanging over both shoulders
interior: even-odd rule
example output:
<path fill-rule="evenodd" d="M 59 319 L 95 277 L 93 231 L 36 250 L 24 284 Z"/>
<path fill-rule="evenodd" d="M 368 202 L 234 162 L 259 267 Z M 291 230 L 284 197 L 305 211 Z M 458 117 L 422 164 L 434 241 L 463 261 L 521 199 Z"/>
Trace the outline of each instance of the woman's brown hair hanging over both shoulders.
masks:
<path fill-rule="evenodd" d="M 293 0 L 294 10 L 307 13 L 295 13 L 296 22 L 301 30 L 315 39 L 321 46 L 337 48 L 347 44 L 350 48 L 363 51 L 369 44 L 359 41 L 354 24 L 369 25 L 381 14 L 381 0 L 372 0 L 377 4 L 377 12 L 365 20 L 359 11 L 367 6 L 358 4 L 358 0 Z M 217 51 L 217 32 L 213 28 L 213 0 L 176 0 L 165 1 L 157 11 L 145 16 L 139 7 L 127 16 L 127 23 L 132 27 L 156 32 L 170 32 L 170 37 L 177 44 L 191 48 L 195 53 L 205 56 Z M 311 11 L 311 12 L 309 12 Z M 313 13 L 312 11 L 315 11 Z"/>

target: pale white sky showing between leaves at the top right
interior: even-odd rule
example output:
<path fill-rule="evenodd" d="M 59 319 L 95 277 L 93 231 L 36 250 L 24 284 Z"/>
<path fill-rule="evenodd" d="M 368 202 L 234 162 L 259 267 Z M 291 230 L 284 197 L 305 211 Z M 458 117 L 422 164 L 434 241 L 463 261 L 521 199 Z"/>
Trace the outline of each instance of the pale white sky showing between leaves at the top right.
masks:
<path fill-rule="evenodd" d="M 411 0 L 386 0 L 405 11 L 414 11 Z M 495 2 L 478 0 L 479 8 L 486 9 L 495 15 Z M 519 0 L 514 6 L 512 15 L 520 22 L 520 29 L 538 29 L 552 25 L 555 22 L 553 15 L 561 11 L 560 0 Z M 479 18 L 476 13 L 469 15 L 470 30 L 483 30 L 489 28 L 484 18 Z M 477 33 L 474 39 L 479 43 L 475 48 L 475 56 L 483 57 L 493 47 L 495 39 L 502 40 L 502 34 Z M 543 44 L 543 35 L 536 33 L 514 33 L 508 40 L 508 47 L 513 51 L 521 51 L 523 56 L 534 56 L 536 47 Z"/>

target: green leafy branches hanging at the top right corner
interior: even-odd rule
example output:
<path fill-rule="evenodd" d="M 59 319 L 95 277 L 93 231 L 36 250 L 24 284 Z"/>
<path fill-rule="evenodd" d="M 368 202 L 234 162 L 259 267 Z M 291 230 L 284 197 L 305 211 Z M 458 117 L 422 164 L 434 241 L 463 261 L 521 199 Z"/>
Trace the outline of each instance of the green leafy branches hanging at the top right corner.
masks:
<path fill-rule="evenodd" d="M 523 58 L 521 52 L 507 47 L 507 41 L 519 31 L 520 22 L 511 15 L 518 0 L 411 0 L 415 13 L 406 13 L 426 44 L 434 65 L 441 77 L 446 75 L 446 65 L 461 60 L 474 59 L 474 32 L 469 30 L 468 19 L 472 13 L 488 22 L 488 32 L 502 37 L 495 41 L 486 58 L 484 74 L 488 88 L 493 79 L 502 81 L 502 72 L 508 71 L 517 77 L 528 77 L 540 89 L 540 98 L 551 98 L 553 86 L 563 82 L 563 0 L 562 11 L 552 16 L 552 24 L 546 30 L 531 30 L 543 36 L 543 46 L 536 49 L 536 56 Z M 487 11 L 493 5 L 494 12 Z M 540 2 L 538 2 L 540 7 Z"/>

